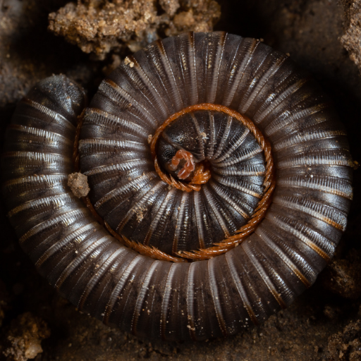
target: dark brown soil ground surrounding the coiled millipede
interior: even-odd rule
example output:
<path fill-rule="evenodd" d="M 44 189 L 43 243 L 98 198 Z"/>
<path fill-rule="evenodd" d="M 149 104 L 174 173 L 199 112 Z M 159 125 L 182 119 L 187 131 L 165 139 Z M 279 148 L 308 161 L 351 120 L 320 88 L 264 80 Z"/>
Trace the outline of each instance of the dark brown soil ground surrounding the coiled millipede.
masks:
<path fill-rule="evenodd" d="M 120 53 L 102 51 L 104 61 L 94 61 L 91 60 L 94 57 L 82 53 L 75 45 L 47 32 L 47 15 L 66 2 L 0 0 L 1 135 L 16 102 L 37 80 L 52 73 L 64 73 L 92 94 L 104 72 L 116 66 L 131 49 L 111 38 L 111 44 L 116 44 Z M 82 4 L 90 2 L 102 3 Z M 182 11 L 190 11 L 197 2 L 209 3 L 160 0 L 154 16 L 166 13 L 173 19 Z M 262 37 L 267 44 L 290 53 L 300 66 L 313 73 L 334 100 L 348 130 L 353 157 L 360 162 L 360 74 L 339 39 L 344 32 L 350 34 L 348 43 L 353 44 L 355 54 L 360 52 L 357 49 L 360 24 L 352 23 L 353 1 L 221 0 L 219 4 L 222 16 L 216 30 Z M 183 21 L 185 26 L 192 20 L 183 16 Z M 169 23 L 167 26 L 171 27 Z M 157 36 L 164 32 L 164 27 L 154 29 Z M 178 31 L 176 27 L 172 29 Z M 361 360 L 360 184 L 358 170 L 348 229 L 334 261 L 314 286 L 288 310 L 270 317 L 262 326 L 232 338 L 203 343 L 137 339 L 77 312 L 37 274 L 20 250 L 0 204 L 0 360 L 26 360 L 39 352 L 40 343 L 43 352 L 37 354 L 37 361 Z"/>

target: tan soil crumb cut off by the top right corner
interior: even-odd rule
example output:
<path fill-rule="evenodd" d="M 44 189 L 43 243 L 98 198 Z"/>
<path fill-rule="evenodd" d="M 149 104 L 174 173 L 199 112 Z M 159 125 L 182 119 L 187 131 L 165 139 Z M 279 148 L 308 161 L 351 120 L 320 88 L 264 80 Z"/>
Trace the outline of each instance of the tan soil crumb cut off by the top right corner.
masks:
<path fill-rule="evenodd" d="M 350 59 L 361 71 L 361 0 L 353 1 L 347 13 L 349 24 L 340 40 L 350 54 Z"/>

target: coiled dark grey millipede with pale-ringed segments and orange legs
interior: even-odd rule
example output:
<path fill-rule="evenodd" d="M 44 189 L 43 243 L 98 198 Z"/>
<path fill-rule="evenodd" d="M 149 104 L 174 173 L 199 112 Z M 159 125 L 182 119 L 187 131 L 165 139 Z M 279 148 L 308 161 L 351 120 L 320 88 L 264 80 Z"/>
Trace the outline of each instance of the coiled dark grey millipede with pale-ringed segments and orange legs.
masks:
<path fill-rule="evenodd" d="M 188 32 L 126 58 L 84 102 L 62 75 L 39 82 L 2 159 L 20 245 L 79 310 L 137 336 L 232 335 L 289 305 L 334 255 L 353 161 L 288 56 Z M 91 211 L 67 185 L 78 161 Z"/>

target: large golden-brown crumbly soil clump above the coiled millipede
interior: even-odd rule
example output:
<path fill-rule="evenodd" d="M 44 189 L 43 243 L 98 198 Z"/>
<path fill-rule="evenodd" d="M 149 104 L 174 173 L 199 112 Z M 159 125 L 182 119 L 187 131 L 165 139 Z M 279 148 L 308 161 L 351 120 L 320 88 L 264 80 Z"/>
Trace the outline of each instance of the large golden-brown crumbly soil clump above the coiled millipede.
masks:
<path fill-rule="evenodd" d="M 85 53 L 137 51 L 161 35 L 212 31 L 221 16 L 214 0 L 85 0 L 49 15 L 49 30 Z"/>

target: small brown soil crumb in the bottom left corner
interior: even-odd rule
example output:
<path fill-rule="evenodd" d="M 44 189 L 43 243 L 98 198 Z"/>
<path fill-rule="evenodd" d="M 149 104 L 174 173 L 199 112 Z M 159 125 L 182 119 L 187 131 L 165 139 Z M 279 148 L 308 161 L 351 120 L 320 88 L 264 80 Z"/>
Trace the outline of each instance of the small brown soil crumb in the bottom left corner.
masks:
<path fill-rule="evenodd" d="M 47 324 L 30 312 L 20 314 L 11 322 L 11 329 L 6 336 L 7 347 L 3 355 L 8 361 L 26 361 L 42 353 L 41 342 L 50 336 Z"/>

